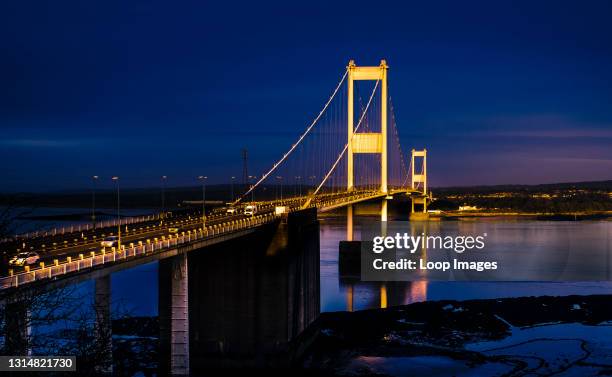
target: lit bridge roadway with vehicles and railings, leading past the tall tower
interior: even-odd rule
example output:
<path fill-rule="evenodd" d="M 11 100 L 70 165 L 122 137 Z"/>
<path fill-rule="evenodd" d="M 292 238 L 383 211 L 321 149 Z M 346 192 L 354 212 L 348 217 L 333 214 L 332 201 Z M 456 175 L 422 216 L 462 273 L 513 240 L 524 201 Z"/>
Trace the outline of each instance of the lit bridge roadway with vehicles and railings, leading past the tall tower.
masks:
<path fill-rule="evenodd" d="M 406 190 L 394 190 L 389 195 L 404 193 Z M 350 204 L 385 197 L 387 194 L 378 191 L 351 191 L 335 194 L 323 194 L 311 203 L 319 212 L 326 212 Z M 300 209 L 304 197 L 275 200 L 269 202 L 258 202 L 256 216 L 246 216 L 243 213 L 227 214 L 213 213 L 207 216 L 206 229 L 202 229 L 202 219 L 194 214 L 172 217 L 159 222 L 149 224 L 131 224 L 128 231 L 122 226 L 122 250 L 115 248 L 103 248 L 100 245 L 102 238 L 113 235 L 117 228 L 98 229 L 94 233 L 96 238 L 75 238 L 73 244 L 61 244 L 55 248 L 44 248 L 35 250 L 41 256 L 36 265 L 29 268 L 13 267 L 9 274 L 0 277 L 0 290 L 17 287 L 41 279 L 55 278 L 87 269 L 98 267 L 101 264 L 121 263 L 128 259 L 138 259 L 152 253 L 159 253 L 166 248 L 178 244 L 202 241 L 207 237 L 218 237 L 219 235 L 243 232 L 257 226 L 268 224 L 280 218 L 274 211 L 277 206 L 286 206 L 290 211 Z M 242 211 L 242 209 L 239 209 Z M 178 233 L 170 233 L 170 228 L 178 228 Z M 72 234 L 76 236 L 76 234 Z M 80 236 L 80 233 L 78 234 Z M 66 235 L 49 236 L 38 240 L 40 245 L 57 244 L 57 239 Z M 69 237 L 69 236 L 68 236 Z M 98 263 L 99 262 L 99 263 Z M 141 263 L 144 263 L 143 259 Z M 7 276 L 8 275 L 8 276 Z"/>

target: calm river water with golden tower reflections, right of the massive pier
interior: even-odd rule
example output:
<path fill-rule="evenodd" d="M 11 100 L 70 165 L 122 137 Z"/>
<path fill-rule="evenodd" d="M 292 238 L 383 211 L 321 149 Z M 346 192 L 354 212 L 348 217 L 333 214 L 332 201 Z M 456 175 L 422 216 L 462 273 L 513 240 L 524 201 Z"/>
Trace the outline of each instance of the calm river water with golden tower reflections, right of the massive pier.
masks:
<path fill-rule="evenodd" d="M 356 210 L 356 212 L 359 211 Z M 356 240 L 361 239 L 363 218 L 357 216 L 354 219 L 354 238 Z M 354 276 L 346 276 L 342 273 L 339 243 L 346 239 L 345 221 L 346 216 L 342 213 L 321 219 L 321 311 L 323 312 L 380 308 L 381 304 L 385 303 L 387 306 L 393 306 L 424 300 L 612 293 L 612 282 L 603 280 L 590 282 L 419 281 L 384 284 L 360 282 L 358 272 Z M 607 264 L 607 271 L 612 271 L 610 262 L 612 255 L 611 221 L 558 222 L 480 218 L 469 221 L 415 223 L 411 225 L 410 233 L 452 235 L 485 231 L 496 240 L 491 246 L 506 253 L 508 258 L 523 258 L 532 253 L 555 253 L 559 250 L 570 250 L 568 263 L 573 263 L 579 268 L 598 270 L 603 268 L 601 264 Z M 583 255 L 590 255 L 592 258 L 581 258 Z"/>

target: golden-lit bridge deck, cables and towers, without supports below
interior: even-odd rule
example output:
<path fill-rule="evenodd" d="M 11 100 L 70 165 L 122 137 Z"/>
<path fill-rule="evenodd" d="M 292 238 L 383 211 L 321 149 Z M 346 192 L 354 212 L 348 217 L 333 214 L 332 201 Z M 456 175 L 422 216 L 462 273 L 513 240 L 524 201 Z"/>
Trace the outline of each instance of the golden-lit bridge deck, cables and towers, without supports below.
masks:
<path fill-rule="evenodd" d="M 353 237 L 356 203 L 380 201 L 380 219 L 387 221 L 388 201 L 396 195 L 408 195 L 413 215 L 426 215 L 430 199 L 427 151 L 412 149 L 410 161 L 406 162 L 395 109 L 388 94 L 388 70 L 385 60 L 378 66 L 349 62 L 322 109 L 303 133 L 232 204 L 237 209 L 251 205 L 256 211 L 179 216 L 161 224 L 155 217 L 140 222 L 127 218 L 102 228 L 92 229 L 88 225 L 72 232 L 36 233 L 31 239 L 18 240 L 29 247 L 18 251 L 35 251 L 41 260 L 37 265 L 9 270 L 8 276 L 0 277 L 0 289 L 83 275 L 127 261 L 130 263 L 124 266 L 131 266 L 140 263 L 139 260 L 176 254 L 182 246 L 192 248 L 194 243 L 209 245 L 240 237 L 288 213 L 307 209 L 326 212 L 346 207 L 348 240 Z M 289 185 L 294 187 L 293 195 L 283 193 L 283 186 Z M 270 187 L 277 191 L 274 199 L 255 200 L 262 189 Z M 169 233 L 171 227 L 178 227 L 180 231 Z M 117 233 L 116 246 L 100 246 L 101 238 Z M 168 250 L 175 252 L 168 254 Z"/>

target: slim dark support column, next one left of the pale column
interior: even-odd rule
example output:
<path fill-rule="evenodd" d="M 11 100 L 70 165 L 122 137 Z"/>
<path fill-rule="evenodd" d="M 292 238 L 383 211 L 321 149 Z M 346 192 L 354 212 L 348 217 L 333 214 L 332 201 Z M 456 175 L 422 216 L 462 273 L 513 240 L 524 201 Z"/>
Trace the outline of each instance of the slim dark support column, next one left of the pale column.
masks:
<path fill-rule="evenodd" d="M 111 277 L 106 275 L 95 280 L 94 311 L 96 316 L 96 343 L 100 354 L 107 355 L 104 363 L 98 366 L 98 372 L 113 373 L 113 330 L 111 319 Z"/>

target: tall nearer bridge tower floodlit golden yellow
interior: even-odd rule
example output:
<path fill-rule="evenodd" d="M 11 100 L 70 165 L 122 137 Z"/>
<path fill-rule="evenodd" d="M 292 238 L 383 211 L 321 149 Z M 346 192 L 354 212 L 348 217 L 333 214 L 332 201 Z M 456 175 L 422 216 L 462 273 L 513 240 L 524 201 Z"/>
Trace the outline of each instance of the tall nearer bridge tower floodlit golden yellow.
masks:
<path fill-rule="evenodd" d="M 355 61 L 348 66 L 348 148 L 347 148 L 347 189 L 354 189 L 353 154 L 380 154 L 380 191 L 387 193 L 387 62 L 383 59 L 379 66 L 358 67 Z M 380 80 L 380 132 L 355 132 L 354 125 L 354 81 Z M 381 220 L 387 221 L 387 200 L 383 199 Z"/>

